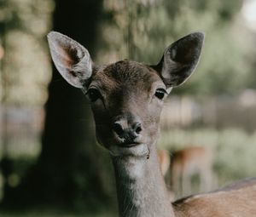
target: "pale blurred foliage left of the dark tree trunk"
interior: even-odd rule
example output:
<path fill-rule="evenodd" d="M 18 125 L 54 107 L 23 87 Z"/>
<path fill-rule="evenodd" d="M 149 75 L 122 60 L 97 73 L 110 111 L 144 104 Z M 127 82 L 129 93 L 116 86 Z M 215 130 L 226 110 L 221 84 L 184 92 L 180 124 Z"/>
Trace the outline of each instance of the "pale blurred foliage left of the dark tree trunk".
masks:
<path fill-rule="evenodd" d="M 42 105 L 46 100 L 50 64 L 44 37 L 49 31 L 52 0 L 1 1 L 1 83 L 3 101 L 11 105 Z"/>

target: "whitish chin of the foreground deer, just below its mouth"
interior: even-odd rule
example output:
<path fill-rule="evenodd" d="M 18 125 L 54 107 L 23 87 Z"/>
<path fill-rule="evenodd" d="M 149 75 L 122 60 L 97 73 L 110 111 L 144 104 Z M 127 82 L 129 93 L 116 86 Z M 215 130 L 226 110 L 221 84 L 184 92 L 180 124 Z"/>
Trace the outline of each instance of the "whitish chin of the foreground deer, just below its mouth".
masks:
<path fill-rule="evenodd" d="M 131 147 L 113 145 L 109 146 L 109 152 L 113 157 L 146 157 L 149 154 L 149 149 L 146 144 L 140 144 Z"/>

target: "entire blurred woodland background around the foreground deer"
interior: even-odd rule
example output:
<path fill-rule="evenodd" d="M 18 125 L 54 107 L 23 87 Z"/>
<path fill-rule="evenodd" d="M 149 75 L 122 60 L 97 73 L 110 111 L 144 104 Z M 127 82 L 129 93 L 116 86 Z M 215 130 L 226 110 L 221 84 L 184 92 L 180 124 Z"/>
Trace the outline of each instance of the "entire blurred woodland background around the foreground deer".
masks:
<path fill-rule="evenodd" d="M 117 216 L 108 152 L 88 101 L 52 66 L 50 30 L 98 64 L 156 64 L 204 31 L 195 74 L 162 113 L 166 184 L 177 198 L 256 175 L 255 0 L 0 0 L 1 216 Z"/>

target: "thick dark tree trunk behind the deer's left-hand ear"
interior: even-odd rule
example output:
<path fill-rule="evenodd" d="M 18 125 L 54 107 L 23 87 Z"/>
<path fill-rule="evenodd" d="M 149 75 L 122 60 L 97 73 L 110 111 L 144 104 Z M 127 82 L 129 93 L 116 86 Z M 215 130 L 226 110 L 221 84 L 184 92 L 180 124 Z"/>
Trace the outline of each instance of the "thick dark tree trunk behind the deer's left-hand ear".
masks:
<path fill-rule="evenodd" d="M 53 29 L 83 44 L 93 58 L 101 17 L 102 0 L 55 0 Z M 45 111 L 42 152 L 16 193 L 17 202 L 23 197 L 29 203 L 89 210 L 92 203 L 108 201 L 88 102 L 55 66 Z M 14 202 L 13 194 L 8 197 Z"/>

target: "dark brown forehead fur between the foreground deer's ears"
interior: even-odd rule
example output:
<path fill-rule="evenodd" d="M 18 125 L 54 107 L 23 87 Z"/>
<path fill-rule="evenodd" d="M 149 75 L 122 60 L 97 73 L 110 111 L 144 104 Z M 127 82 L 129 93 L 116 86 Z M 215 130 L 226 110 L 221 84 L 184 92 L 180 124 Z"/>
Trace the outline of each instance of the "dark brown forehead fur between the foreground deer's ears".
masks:
<path fill-rule="evenodd" d="M 138 86 L 138 84 L 151 84 L 160 81 L 160 76 L 152 68 L 141 63 L 121 60 L 97 71 L 93 80 L 101 83 L 102 87 L 124 84 L 133 87 Z"/>

